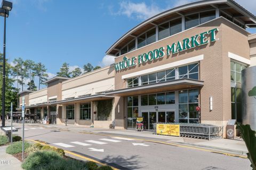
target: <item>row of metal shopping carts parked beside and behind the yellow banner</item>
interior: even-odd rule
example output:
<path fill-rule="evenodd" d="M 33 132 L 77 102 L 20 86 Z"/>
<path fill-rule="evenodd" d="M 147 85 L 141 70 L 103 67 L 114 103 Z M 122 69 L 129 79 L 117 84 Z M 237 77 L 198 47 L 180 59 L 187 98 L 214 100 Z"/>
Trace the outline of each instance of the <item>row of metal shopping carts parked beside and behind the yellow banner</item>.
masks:
<path fill-rule="evenodd" d="M 158 123 L 158 124 L 179 124 L 180 137 L 197 138 L 197 139 L 216 139 L 222 138 L 223 126 L 200 123 Z M 156 125 L 154 125 L 156 130 Z M 155 131 L 156 132 L 156 131 Z"/>

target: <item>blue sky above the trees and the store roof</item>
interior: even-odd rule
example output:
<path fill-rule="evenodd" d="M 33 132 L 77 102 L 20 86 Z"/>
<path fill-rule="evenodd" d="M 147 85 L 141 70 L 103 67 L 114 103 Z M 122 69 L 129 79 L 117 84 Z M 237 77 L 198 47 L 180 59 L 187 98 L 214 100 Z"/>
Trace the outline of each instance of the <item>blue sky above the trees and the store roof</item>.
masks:
<path fill-rule="evenodd" d="M 113 61 L 105 57 L 106 50 L 126 31 L 163 10 L 193 1 L 12 0 L 6 57 L 10 62 L 17 57 L 42 62 L 50 77 L 63 62 L 71 70 L 86 63 L 104 66 Z M 255 0 L 237 2 L 256 14 Z"/>

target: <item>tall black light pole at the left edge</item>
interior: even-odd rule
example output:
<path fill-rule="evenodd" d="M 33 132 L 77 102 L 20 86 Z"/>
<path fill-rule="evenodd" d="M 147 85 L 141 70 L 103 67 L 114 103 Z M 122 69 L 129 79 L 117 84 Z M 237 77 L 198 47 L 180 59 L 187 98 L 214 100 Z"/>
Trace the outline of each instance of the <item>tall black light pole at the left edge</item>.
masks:
<path fill-rule="evenodd" d="M 6 18 L 9 16 L 9 11 L 12 10 L 12 3 L 2 1 L 0 15 L 4 16 L 4 50 L 3 50 L 3 87 L 2 87 L 2 127 L 5 126 L 5 33 L 6 33 Z"/>

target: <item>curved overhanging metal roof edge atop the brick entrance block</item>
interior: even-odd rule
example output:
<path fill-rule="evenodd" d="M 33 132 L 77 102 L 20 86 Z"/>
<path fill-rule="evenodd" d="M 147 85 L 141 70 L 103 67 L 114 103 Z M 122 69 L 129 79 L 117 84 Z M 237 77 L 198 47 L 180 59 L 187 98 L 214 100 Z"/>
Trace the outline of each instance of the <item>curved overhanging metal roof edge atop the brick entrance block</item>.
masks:
<path fill-rule="evenodd" d="M 146 21 L 141 22 L 140 24 L 138 24 L 137 26 L 135 26 L 134 28 L 132 28 L 130 31 L 126 32 L 121 38 L 119 38 L 106 52 L 106 54 L 111 54 L 111 52 L 113 53 L 113 50 L 117 50 L 115 49 L 116 46 L 118 44 L 120 44 L 122 41 L 124 41 L 126 38 L 130 37 L 134 37 L 134 35 L 132 35 L 132 33 L 134 33 L 135 31 L 146 27 L 147 24 L 152 24 L 155 25 L 153 22 L 163 18 L 164 16 L 170 15 L 170 14 L 182 14 L 182 11 L 185 10 L 189 10 L 189 9 L 193 9 L 193 8 L 198 8 L 198 7 L 202 7 L 202 6 L 210 6 L 213 8 L 219 8 L 219 6 L 221 5 L 226 5 L 226 8 L 231 8 L 234 9 L 236 12 L 238 12 L 241 15 L 237 15 L 235 16 L 237 17 L 241 17 L 241 19 L 246 18 L 246 20 L 250 20 L 251 24 L 255 24 L 256 23 L 256 16 L 254 16 L 252 13 L 250 13 L 249 11 L 247 11 L 245 8 L 243 8 L 241 5 L 237 4 L 235 1 L 233 0 L 204 0 L 204 1 L 197 1 L 197 2 L 193 2 L 193 3 L 189 3 L 186 5 L 182 5 L 182 6 L 178 6 L 178 7 L 174 7 L 170 10 L 164 11 L 162 13 L 159 13 L 149 19 L 147 19 Z M 222 7 L 225 8 L 225 7 Z M 142 32 L 141 32 L 142 33 Z"/>

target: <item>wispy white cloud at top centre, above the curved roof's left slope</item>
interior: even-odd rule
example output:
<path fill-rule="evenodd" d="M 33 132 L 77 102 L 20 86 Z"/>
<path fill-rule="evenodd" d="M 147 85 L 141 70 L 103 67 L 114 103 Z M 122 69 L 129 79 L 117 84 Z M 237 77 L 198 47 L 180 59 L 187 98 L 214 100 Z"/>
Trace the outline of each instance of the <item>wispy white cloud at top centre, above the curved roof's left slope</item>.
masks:
<path fill-rule="evenodd" d="M 128 18 L 145 20 L 163 11 L 156 4 L 147 5 L 145 2 L 133 3 L 123 1 L 119 4 L 119 10 L 115 15 L 126 15 Z"/>

